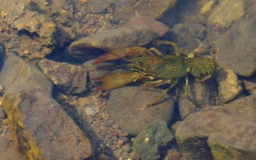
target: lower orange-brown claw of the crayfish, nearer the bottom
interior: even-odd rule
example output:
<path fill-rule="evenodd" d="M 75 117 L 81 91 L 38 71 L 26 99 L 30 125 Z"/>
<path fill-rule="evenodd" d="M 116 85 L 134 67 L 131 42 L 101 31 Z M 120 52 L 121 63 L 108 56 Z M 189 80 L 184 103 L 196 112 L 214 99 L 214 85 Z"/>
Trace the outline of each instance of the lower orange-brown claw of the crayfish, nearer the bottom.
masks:
<path fill-rule="evenodd" d="M 142 79 L 147 79 L 148 77 L 142 73 L 138 72 L 128 72 L 128 73 L 112 73 L 106 75 L 106 77 L 102 79 L 98 79 L 102 81 L 102 85 L 97 87 L 94 91 L 102 91 L 102 90 L 111 90 L 119 87 L 123 87 L 129 83 L 133 83 Z"/>

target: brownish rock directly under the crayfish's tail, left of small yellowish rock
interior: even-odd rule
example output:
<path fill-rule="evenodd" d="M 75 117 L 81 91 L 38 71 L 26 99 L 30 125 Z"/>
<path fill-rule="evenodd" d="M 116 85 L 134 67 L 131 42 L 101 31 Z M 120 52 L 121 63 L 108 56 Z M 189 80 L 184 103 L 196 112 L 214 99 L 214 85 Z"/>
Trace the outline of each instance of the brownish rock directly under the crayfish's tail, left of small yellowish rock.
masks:
<path fill-rule="evenodd" d="M 194 105 L 188 98 L 181 96 L 179 98 L 180 118 L 185 119 L 191 113 L 200 111 L 203 108 L 215 105 L 217 88 L 214 86 L 212 79 L 206 82 L 192 82 L 188 87 L 188 95 L 195 101 L 198 106 Z"/>

